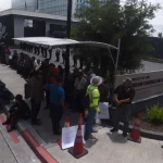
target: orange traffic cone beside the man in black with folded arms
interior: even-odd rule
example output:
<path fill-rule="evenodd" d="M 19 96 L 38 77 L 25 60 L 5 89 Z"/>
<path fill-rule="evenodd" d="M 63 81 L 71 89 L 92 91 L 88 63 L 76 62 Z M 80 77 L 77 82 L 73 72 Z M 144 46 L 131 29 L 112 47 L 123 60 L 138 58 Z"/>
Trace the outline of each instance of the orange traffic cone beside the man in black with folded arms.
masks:
<path fill-rule="evenodd" d="M 141 120 L 141 115 L 139 114 L 138 117 L 137 117 L 137 121 L 134 125 L 134 128 L 131 129 L 130 134 L 128 135 L 128 140 L 139 142 L 139 143 L 141 142 L 140 120 Z"/>

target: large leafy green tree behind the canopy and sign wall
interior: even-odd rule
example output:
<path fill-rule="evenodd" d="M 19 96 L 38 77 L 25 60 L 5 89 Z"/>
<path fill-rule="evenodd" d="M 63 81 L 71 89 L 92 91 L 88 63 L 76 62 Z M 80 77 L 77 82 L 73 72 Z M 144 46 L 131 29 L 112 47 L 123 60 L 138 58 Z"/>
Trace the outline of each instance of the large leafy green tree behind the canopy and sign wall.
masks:
<path fill-rule="evenodd" d="M 128 71 L 140 67 L 141 54 L 151 49 L 148 37 L 154 32 L 149 20 L 154 18 L 159 4 L 147 0 L 126 0 L 124 5 L 115 5 L 112 0 L 100 2 L 89 0 L 76 11 L 78 24 L 72 27 L 72 37 L 78 40 L 95 40 L 117 46 L 122 39 L 118 70 Z M 113 75 L 114 66 L 105 49 L 84 49 L 87 58 L 95 60 L 101 74 Z M 115 51 L 113 51 L 115 60 Z M 98 61 L 98 63 L 97 63 Z"/>

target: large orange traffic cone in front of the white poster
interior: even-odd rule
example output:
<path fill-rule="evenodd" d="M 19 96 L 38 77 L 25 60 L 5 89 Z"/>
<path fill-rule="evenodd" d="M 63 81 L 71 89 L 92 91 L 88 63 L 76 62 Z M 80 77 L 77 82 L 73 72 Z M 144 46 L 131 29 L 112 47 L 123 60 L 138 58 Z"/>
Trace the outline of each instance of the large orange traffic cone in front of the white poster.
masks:
<path fill-rule="evenodd" d="M 88 154 L 88 151 L 84 148 L 83 143 L 83 135 L 82 135 L 82 125 L 78 125 L 78 130 L 76 134 L 76 139 L 74 147 L 68 150 L 68 152 L 76 159 L 79 159 L 86 154 Z"/>

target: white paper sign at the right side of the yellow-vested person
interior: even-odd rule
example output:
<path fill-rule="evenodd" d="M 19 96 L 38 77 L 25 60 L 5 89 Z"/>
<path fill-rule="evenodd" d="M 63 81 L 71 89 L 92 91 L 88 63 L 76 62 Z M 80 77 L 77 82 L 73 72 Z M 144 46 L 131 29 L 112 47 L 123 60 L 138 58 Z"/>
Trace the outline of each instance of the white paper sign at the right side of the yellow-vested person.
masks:
<path fill-rule="evenodd" d="M 108 120 L 110 118 L 110 114 L 109 114 L 109 102 L 100 102 L 99 103 L 99 108 L 101 110 L 101 113 L 99 114 L 99 118 L 102 120 Z"/>

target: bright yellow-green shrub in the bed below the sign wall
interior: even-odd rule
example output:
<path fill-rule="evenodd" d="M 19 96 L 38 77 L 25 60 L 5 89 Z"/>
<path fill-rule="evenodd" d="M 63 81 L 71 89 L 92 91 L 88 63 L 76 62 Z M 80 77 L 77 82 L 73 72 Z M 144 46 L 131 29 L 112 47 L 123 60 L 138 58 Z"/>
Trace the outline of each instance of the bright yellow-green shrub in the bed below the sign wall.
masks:
<path fill-rule="evenodd" d="M 154 104 L 150 109 L 147 108 L 147 115 L 145 118 L 151 123 L 163 123 L 163 106 Z"/>

